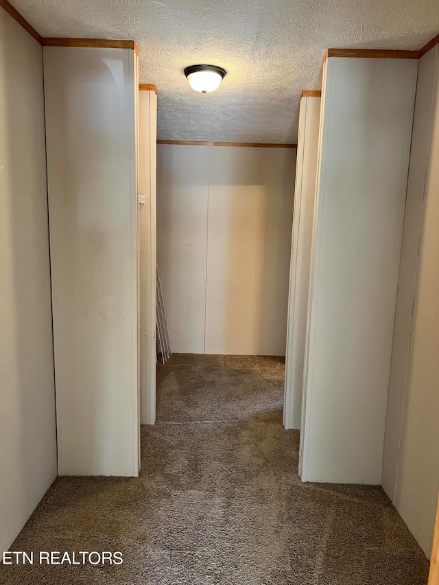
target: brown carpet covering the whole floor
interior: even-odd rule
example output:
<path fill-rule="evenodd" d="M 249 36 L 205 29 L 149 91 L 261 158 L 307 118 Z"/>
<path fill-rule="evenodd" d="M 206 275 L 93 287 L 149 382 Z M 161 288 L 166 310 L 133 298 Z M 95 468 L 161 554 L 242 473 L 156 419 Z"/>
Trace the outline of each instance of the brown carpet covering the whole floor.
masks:
<path fill-rule="evenodd" d="M 121 566 L 0 566 L 0 583 L 426 585 L 381 488 L 302 484 L 282 359 L 174 355 L 139 479 L 60 477 L 12 547 L 121 551 Z"/>

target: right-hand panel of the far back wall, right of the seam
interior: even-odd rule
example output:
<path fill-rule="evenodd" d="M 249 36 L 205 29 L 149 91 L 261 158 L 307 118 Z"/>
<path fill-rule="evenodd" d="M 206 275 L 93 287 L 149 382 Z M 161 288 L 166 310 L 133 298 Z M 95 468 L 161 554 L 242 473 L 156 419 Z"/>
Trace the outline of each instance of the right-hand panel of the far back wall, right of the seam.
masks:
<path fill-rule="evenodd" d="M 211 147 L 205 353 L 285 355 L 295 159 Z"/>

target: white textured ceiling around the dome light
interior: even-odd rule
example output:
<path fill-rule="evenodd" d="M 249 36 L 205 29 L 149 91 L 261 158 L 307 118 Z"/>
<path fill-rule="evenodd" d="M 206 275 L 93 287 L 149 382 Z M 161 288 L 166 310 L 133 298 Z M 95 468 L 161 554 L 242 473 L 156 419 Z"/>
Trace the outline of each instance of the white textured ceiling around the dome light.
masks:
<path fill-rule="evenodd" d="M 43 36 L 137 41 L 158 88 L 158 138 L 295 142 L 300 92 L 321 85 L 328 47 L 419 49 L 438 0 L 12 0 Z M 182 69 L 228 71 L 195 93 Z"/>

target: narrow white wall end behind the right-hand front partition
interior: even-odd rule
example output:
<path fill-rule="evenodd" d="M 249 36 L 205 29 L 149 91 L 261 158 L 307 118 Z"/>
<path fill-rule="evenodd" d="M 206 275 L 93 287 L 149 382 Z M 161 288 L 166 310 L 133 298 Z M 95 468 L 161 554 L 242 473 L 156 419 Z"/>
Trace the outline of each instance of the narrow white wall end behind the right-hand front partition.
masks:
<path fill-rule="evenodd" d="M 309 267 L 316 200 L 320 97 L 300 99 L 285 362 L 285 429 L 300 429 Z"/>

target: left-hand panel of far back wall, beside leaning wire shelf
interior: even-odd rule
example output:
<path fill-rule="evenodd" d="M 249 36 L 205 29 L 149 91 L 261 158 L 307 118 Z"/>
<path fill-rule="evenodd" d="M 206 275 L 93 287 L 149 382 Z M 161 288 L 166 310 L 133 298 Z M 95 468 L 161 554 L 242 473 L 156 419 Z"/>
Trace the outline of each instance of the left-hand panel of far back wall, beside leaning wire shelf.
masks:
<path fill-rule="evenodd" d="M 209 160 L 209 147 L 157 146 L 157 265 L 174 353 L 204 353 Z"/>

